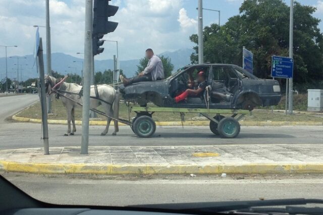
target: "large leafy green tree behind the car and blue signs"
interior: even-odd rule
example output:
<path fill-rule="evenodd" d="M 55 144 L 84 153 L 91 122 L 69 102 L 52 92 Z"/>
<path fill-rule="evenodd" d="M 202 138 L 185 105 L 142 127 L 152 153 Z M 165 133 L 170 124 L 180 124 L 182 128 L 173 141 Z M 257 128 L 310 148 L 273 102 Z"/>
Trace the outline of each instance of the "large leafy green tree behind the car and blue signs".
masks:
<path fill-rule="evenodd" d="M 245 0 L 240 14 L 219 27 L 204 28 L 204 62 L 242 65 L 242 46 L 254 54 L 254 74 L 270 78 L 273 55 L 288 56 L 289 7 L 282 0 Z M 294 3 L 294 82 L 305 90 L 323 82 L 323 36 L 319 19 L 312 16 L 315 8 Z M 197 44 L 197 35 L 190 36 Z M 196 53 L 191 56 L 197 63 Z"/>

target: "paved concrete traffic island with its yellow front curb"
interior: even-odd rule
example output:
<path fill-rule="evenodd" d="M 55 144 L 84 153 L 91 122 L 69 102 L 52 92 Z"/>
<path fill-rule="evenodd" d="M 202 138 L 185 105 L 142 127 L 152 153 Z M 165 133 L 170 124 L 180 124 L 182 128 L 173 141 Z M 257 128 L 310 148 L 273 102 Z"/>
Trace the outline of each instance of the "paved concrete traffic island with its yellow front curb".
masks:
<path fill-rule="evenodd" d="M 323 173 L 323 144 L 107 146 L 0 150 L 0 171 L 38 174 Z"/>

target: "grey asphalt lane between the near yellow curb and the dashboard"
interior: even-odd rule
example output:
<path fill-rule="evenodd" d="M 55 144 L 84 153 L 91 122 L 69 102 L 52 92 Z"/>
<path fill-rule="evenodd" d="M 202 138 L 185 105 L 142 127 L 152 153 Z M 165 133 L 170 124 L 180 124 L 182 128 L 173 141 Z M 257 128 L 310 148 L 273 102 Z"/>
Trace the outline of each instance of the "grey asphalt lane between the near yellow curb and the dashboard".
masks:
<path fill-rule="evenodd" d="M 321 175 L 44 176 L 0 173 L 50 203 L 136 205 L 283 198 L 322 198 Z"/>

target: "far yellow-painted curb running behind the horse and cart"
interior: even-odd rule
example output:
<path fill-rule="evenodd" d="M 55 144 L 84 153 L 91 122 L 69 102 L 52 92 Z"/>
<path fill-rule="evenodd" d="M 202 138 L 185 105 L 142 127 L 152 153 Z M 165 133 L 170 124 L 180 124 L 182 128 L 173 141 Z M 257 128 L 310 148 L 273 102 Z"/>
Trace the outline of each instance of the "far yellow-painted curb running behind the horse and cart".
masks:
<path fill-rule="evenodd" d="M 12 116 L 12 119 L 18 122 L 32 122 L 32 123 L 41 123 L 40 119 L 32 119 L 32 118 L 25 118 L 25 117 L 17 117 L 16 115 Z M 47 120 L 48 124 L 59 124 L 59 125 L 67 125 L 67 120 Z M 106 121 L 90 121 L 90 125 L 94 126 L 105 126 Z M 82 125 L 82 121 L 76 120 L 76 125 Z M 119 123 L 119 125 L 124 126 L 126 124 Z M 182 122 L 156 122 L 157 126 L 182 126 Z M 186 121 L 183 122 L 184 126 L 208 126 L 209 121 Z M 248 122 L 248 121 L 241 121 L 240 125 L 242 126 L 322 126 L 323 122 Z M 113 126 L 113 122 L 111 122 L 111 126 Z"/>

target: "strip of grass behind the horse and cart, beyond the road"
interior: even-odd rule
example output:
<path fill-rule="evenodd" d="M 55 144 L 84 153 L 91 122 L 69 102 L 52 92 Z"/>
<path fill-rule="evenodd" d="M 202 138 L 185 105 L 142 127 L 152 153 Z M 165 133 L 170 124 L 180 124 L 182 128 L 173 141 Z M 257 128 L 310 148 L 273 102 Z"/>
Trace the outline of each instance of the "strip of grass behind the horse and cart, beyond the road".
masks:
<path fill-rule="evenodd" d="M 99 106 L 98 109 L 102 111 L 102 108 Z M 66 110 L 63 106 L 61 100 L 54 99 L 52 102 L 52 111 L 53 114 L 48 115 L 48 119 L 54 120 L 66 120 Z M 136 114 L 134 112 L 130 112 L 130 118 L 134 117 Z M 22 111 L 17 115 L 18 117 L 26 117 L 26 118 L 34 118 L 34 119 L 41 119 L 41 109 L 40 103 L 37 102 L 32 105 L 30 108 Z M 82 119 L 82 109 L 75 110 L 75 117 L 76 120 Z M 128 120 L 128 106 L 124 103 L 120 104 L 120 118 Z M 185 114 L 186 121 L 192 120 L 207 120 L 206 118 L 198 118 L 198 114 Z M 153 118 L 155 121 L 181 121 L 179 113 L 154 113 Z M 98 115 L 98 119 L 96 120 L 105 120 L 105 118 L 101 115 Z M 315 121 L 315 122 L 322 122 L 323 118 L 319 116 L 313 115 L 304 115 L 304 114 L 295 114 L 292 116 L 285 115 L 284 113 L 271 113 L 270 111 L 252 111 L 252 115 L 246 115 L 243 119 L 244 121 Z"/>

